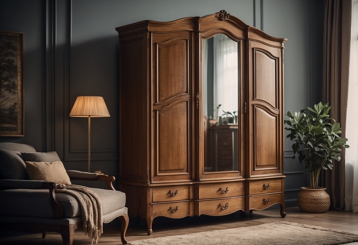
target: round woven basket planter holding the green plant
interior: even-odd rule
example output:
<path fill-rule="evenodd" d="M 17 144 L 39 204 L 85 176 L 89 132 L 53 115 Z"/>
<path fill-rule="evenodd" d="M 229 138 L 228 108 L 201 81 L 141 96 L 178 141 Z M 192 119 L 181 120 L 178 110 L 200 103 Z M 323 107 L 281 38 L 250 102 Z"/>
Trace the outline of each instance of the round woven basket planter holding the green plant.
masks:
<path fill-rule="evenodd" d="M 325 191 L 326 188 L 311 189 L 309 187 L 301 187 L 301 191 L 297 196 L 297 204 L 303 212 L 327 212 L 330 205 L 329 195 Z"/>

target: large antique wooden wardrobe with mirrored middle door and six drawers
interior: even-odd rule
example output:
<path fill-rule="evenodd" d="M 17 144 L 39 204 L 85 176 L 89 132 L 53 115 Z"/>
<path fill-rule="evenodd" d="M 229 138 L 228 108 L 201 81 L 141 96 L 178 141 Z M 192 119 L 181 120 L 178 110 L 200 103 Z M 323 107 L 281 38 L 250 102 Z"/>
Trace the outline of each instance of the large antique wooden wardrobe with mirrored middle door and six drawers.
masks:
<path fill-rule="evenodd" d="M 280 204 L 285 217 L 287 39 L 224 10 L 116 30 L 119 188 L 129 214 L 146 219 L 148 234 L 157 216 L 226 215 Z"/>

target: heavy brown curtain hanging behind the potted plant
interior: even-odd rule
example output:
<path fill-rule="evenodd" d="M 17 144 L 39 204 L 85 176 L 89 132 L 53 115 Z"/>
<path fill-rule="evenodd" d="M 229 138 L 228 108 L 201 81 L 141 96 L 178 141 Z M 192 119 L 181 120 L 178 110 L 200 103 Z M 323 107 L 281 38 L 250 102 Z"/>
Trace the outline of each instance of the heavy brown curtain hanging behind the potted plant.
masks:
<path fill-rule="evenodd" d="M 330 116 L 340 122 L 345 137 L 347 114 L 351 0 L 325 0 L 323 33 L 323 95 L 332 106 Z M 344 210 L 345 150 L 333 170 L 323 171 L 323 186 L 331 198 L 330 209 Z"/>

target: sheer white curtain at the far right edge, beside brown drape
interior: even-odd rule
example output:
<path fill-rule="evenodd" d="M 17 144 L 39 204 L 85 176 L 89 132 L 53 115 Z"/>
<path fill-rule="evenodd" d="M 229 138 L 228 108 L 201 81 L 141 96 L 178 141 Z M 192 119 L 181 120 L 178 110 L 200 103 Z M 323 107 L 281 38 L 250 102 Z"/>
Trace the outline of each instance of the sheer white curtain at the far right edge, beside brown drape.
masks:
<path fill-rule="evenodd" d="M 345 152 L 345 210 L 358 212 L 358 0 L 352 0 L 349 87 Z"/>

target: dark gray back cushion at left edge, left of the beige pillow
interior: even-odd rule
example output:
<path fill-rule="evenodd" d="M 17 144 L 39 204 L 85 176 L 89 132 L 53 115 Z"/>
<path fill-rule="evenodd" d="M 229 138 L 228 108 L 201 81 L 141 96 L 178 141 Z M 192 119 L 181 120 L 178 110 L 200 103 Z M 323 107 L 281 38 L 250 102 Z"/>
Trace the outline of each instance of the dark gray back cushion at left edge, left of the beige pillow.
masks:
<path fill-rule="evenodd" d="M 19 151 L 0 149 L 1 179 L 28 180 L 26 165 Z"/>

